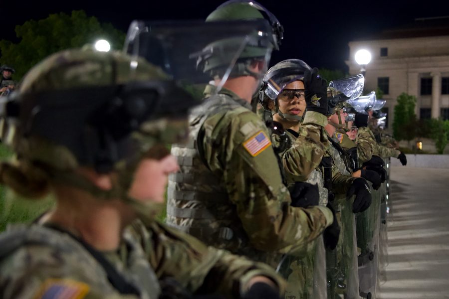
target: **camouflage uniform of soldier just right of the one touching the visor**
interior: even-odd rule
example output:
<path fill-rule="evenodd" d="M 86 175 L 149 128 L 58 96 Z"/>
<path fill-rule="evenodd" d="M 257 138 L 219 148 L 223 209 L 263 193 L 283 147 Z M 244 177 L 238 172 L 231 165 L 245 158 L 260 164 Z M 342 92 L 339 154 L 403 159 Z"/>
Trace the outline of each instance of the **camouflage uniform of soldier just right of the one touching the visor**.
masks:
<path fill-rule="evenodd" d="M 329 137 L 330 138 L 330 137 Z M 339 142 L 334 134 L 333 140 Z M 337 248 L 326 251 L 328 279 L 328 298 L 358 298 L 357 249 L 355 238 L 355 219 L 352 212 L 352 198 L 346 199 L 354 177 L 345 164 L 340 152 L 332 145 L 327 151 L 332 157 L 332 193 L 335 195 L 332 207 L 336 212 L 340 238 Z"/>

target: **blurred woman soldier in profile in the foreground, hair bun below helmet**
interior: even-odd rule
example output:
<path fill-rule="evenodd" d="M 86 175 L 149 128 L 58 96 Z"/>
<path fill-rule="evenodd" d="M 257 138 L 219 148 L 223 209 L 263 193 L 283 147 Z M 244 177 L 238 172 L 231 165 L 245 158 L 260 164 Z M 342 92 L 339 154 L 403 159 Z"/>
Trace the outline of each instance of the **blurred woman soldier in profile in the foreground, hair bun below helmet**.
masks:
<path fill-rule="evenodd" d="M 23 196 L 51 192 L 56 206 L 1 234 L 0 297 L 279 298 L 268 266 L 154 220 L 178 168 L 165 145 L 185 138 L 195 103 L 159 67 L 119 52 L 67 50 L 31 69 L 2 109 L 16 158 L 0 179 Z"/>

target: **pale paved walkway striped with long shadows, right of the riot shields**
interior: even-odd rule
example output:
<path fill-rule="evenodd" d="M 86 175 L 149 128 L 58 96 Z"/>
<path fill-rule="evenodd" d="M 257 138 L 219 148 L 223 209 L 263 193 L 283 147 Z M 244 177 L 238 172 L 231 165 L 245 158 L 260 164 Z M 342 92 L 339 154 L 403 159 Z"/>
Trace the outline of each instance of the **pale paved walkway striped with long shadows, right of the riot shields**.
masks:
<path fill-rule="evenodd" d="M 382 299 L 449 298 L 449 169 L 391 171 L 387 281 Z"/>

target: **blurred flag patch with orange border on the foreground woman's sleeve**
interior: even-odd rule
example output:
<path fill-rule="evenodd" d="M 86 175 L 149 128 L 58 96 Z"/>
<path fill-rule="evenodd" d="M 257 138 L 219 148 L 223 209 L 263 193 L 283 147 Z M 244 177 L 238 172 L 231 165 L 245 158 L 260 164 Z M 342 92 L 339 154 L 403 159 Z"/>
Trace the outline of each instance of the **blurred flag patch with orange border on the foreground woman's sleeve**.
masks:
<path fill-rule="evenodd" d="M 47 279 L 34 299 L 83 299 L 89 289 L 85 283 L 70 279 Z"/>

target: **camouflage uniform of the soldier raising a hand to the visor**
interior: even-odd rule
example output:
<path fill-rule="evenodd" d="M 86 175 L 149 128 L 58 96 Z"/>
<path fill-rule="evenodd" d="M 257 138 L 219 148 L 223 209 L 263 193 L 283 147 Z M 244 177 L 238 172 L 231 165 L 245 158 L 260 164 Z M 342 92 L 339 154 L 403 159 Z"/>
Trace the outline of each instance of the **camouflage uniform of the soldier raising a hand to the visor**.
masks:
<path fill-rule="evenodd" d="M 315 121 L 312 123 L 311 120 L 313 118 L 315 118 Z M 307 112 L 305 123 L 300 127 L 299 133 L 293 132 L 292 130 L 286 131 L 293 146 L 280 152 L 279 155 L 282 160 L 282 166 L 287 182 L 291 185 L 294 181 L 303 180 L 305 175 L 300 172 L 300 169 L 303 169 L 303 171 L 307 169 L 306 167 L 296 166 L 299 162 L 304 161 L 304 155 L 301 155 L 301 151 L 298 149 L 304 150 L 310 147 L 316 147 L 316 144 L 313 143 L 313 138 L 317 138 L 318 136 L 320 144 L 328 149 L 329 141 L 324 130 L 325 125 L 325 118 L 323 119 L 316 112 Z M 277 146 L 276 136 L 277 135 L 274 135 L 272 138 L 274 147 Z M 307 136 L 312 139 L 312 142 L 309 141 Z M 305 141 L 304 138 L 306 138 Z M 301 141 L 305 142 L 302 146 L 300 146 Z M 308 151 L 311 152 L 312 150 L 314 149 L 309 149 Z M 317 150 L 314 150 L 314 152 L 316 154 Z M 318 186 L 320 195 L 319 203 L 321 206 L 326 206 L 328 192 L 327 189 L 324 188 L 323 171 L 319 166 L 321 157 L 319 160 L 318 156 L 315 157 L 316 160 L 314 165 L 316 168 L 308 175 L 306 182 Z M 305 160 L 307 161 L 307 158 Z M 288 282 L 285 298 L 326 298 L 326 256 L 322 236 L 313 243 L 310 243 L 308 247 L 307 254 L 304 257 L 300 259 L 290 257 L 289 260 L 284 261 L 286 264 L 289 263 L 288 266 L 286 265 L 283 267 L 285 273 L 280 271 L 280 273 L 287 278 Z"/>

